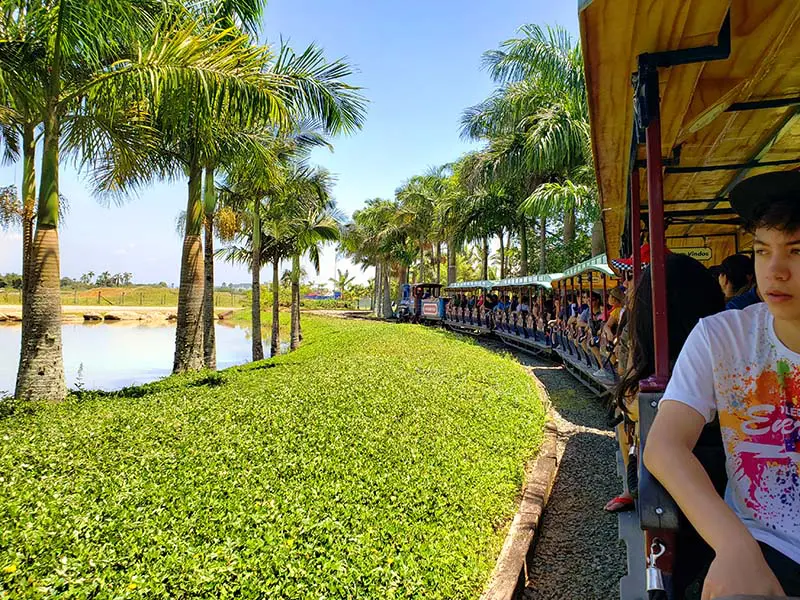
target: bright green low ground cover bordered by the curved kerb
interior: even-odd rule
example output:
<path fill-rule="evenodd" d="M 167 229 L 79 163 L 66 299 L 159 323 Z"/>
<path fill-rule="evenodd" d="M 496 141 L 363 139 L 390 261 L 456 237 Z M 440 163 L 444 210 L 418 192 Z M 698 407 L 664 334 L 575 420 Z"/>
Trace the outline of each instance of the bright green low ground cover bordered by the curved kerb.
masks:
<path fill-rule="evenodd" d="M 532 380 L 419 326 L 304 333 L 0 420 L 0 596 L 477 598 L 540 443 Z"/>

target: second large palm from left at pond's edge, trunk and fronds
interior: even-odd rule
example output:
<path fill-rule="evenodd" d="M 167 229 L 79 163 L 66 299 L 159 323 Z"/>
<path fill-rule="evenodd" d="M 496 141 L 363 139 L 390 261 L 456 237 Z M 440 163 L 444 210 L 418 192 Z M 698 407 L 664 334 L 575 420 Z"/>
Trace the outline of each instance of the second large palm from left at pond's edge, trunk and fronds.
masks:
<path fill-rule="evenodd" d="M 226 30 L 215 35 L 234 34 Z M 228 38 L 223 39 L 227 42 Z M 184 94 L 162 95 L 154 108 L 162 144 L 150 157 L 146 174 L 134 168 L 113 172 L 108 178 L 112 185 L 124 182 L 130 186 L 131 182 L 141 184 L 188 173 L 174 372 L 199 369 L 211 360 L 213 346 L 204 343 L 203 329 L 211 331 L 213 320 L 213 273 L 205 269 L 200 234 L 205 220 L 207 257 L 213 252 L 208 247 L 213 243 L 214 171 L 225 170 L 226 163 L 237 157 L 263 163 L 269 159 L 263 153 L 269 141 L 296 129 L 303 119 L 312 119 L 317 129 L 336 134 L 354 131 L 364 117 L 363 98 L 345 81 L 351 74 L 345 62 L 326 61 L 315 46 L 296 54 L 284 45 L 273 54 L 267 48 L 250 47 L 245 35 L 237 39 L 246 52 L 235 63 L 239 71 L 236 84 L 216 95 L 201 93 L 199 86 Z M 209 43 L 218 45 L 220 41 Z"/>

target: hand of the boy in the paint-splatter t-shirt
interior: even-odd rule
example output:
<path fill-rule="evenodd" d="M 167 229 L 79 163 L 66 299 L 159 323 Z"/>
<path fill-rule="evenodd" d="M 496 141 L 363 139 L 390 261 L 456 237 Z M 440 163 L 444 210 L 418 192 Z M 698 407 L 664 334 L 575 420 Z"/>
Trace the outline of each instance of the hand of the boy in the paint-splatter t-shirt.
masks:
<path fill-rule="evenodd" d="M 703 582 L 702 600 L 735 595 L 785 596 L 757 544 L 719 552 Z"/>

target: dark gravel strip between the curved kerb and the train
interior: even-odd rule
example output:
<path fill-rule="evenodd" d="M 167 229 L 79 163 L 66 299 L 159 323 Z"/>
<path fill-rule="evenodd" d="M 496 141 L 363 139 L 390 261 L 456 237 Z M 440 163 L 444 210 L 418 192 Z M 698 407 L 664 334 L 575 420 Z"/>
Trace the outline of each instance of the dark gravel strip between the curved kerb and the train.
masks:
<path fill-rule="evenodd" d="M 486 341 L 487 346 L 498 346 Z M 559 430 L 558 474 L 542 516 L 525 600 L 612 600 L 625 575 L 617 517 L 603 506 L 622 491 L 614 433 L 600 401 L 563 367 L 513 352 L 549 395 Z M 563 454 L 562 454 L 563 453 Z"/>

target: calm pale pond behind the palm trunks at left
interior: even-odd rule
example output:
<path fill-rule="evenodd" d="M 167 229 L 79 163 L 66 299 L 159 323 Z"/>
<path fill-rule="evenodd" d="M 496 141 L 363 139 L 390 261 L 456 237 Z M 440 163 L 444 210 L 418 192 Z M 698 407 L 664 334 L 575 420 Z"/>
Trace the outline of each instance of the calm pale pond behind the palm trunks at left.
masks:
<path fill-rule="evenodd" d="M 250 361 L 250 328 L 218 322 L 217 368 Z M 21 327 L 0 325 L 0 397 L 11 394 L 19 364 Z M 172 373 L 175 325 L 145 321 L 64 324 L 64 372 L 67 387 L 118 390 Z M 264 355 L 269 356 L 269 340 Z"/>

